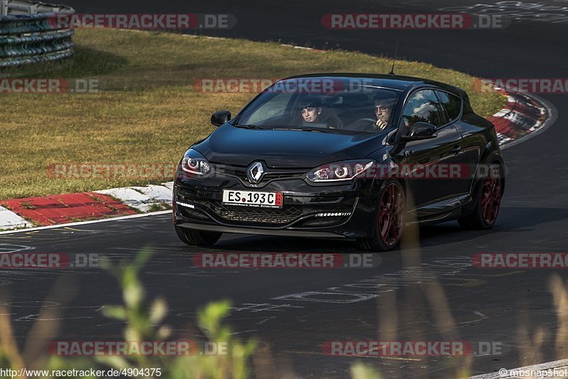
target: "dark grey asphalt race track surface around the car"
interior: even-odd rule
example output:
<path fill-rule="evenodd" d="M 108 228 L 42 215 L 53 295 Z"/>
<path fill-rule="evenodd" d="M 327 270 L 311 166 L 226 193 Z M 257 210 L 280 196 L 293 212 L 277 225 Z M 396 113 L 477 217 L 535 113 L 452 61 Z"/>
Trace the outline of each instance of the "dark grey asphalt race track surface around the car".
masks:
<path fill-rule="evenodd" d="M 90 4 L 89 4 L 90 3 Z M 77 11 L 123 13 L 233 13 L 239 20 L 231 31 L 211 35 L 282 40 L 317 48 L 339 45 L 376 55 L 390 55 L 400 41 L 399 55 L 431 62 L 481 77 L 565 77 L 568 26 L 547 21 L 515 21 L 495 31 L 329 31 L 320 24 L 323 13 L 435 12 L 452 4 L 403 1 L 117 1 L 68 0 Z M 495 4 L 495 3 L 484 3 Z M 535 4 L 564 6 L 560 1 Z M 326 45 L 327 44 L 327 45 Z M 222 57 L 216 57 L 222 59 Z M 309 70 L 308 70 L 309 71 Z M 471 266 L 471 256 L 481 252 L 566 252 L 568 241 L 568 150 L 565 128 L 568 107 L 565 95 L 545 97 L 557 119 L 544 133 L 504 150 L 508 164 L 506 195 L 498 223 L 488 232 L 461 231 L 457 223 L 409 231 L 402 248 L 381 255 L 372 269 L 340 270 L 202 270 L 192 266 L 192 255 L 204 251 L 305 251 L 354 252 L 349 241 L 323 241 L 264 236 L 226 236 L 214 249 L 189 248 L 178 241 L 170 216 L 108 221 L 70 228 L 60 227 L 0 236 L 0 246 L 18 245 L 41 252 L 99 253 L 130 258 L 144 247 L 155 251 L 143 270 L 149 296 L 163 296 L 170 313 L 166 320 L 180 336 L 200 337 L 192 326 L 195 311 L 207 302 L 229 298 L 234 310 L 229 324 L 236 336 L 262 341 L 266 361 L 275 375 L 293 370 L 302 377 L 342 378 L 354 358 L 325 356 L 324 341 L 376 340 L 388 336 L 388 317 L 398 320 L 398 340 L 461 339 L 498 341 L 501 355 L 476 356 L 472 374 L 521 366 L 524 359 L 552 361 L 555 353 L 557 314 L 548 280 L 552 273 L 566 279 L 562 270 L 481 270 Z M 222 109 L 212 104 L 212 111 Z M 188 141 L 190 143 L 191 141 Z M 420 234 L 419 244 L 415 236 Z M 8 249 L 9 250 L 9 249 Z M 402 271 L 422 263 L 435 273 L 451 309 L 452 322 L 435 314 L 439 287 L 427 273 Z M 60 334 L 52 339 L 119 339 L 122 324 L 105 319 L 104 304 L 121 302 L 114 279 L 94 268 L 62 270 L 9 270 L 0 272 L 0 289 L 11 295 L 11 318 L 18 341 L 25 340 L 39 304 L 61 274 L 72 280 L 60 299 L 53 300 L 62 319 Z M 405 276 L 406 275 L 406 276 Z M 369 281 L 388 282 L 395 292 L 377 293 Z M 405 279 L 406 278 L 406 279 Z M 361 285 L 367 283 L 367 285 Z M 74 293 L 76 292 L 76 293 Z M 305 292 L 317 292 L 311 295 Z M 341 293 L 351 295 L 340 295 Z M 303 294 L 303 295 L 299 295 Z M 353 295 L 356 294 L 356 295 Z M 528 335 L 544 328 L 540 348 L 519 336 L 520 325 Z M 381 330 L 381 333 L 379 332 Z M 391 335 L 392 337 L 392 335 Z M 361 359 L 360 359 L 361 360 Z M 446 358 L 363 358 L 386 378 L 446 378 L 455 372 Z M 536 362 L 535 362 L 536 363 Z M 273 368 L 276 367 L 276 368 Z M 270 371 L 269 371 L 270 372 Z"/>

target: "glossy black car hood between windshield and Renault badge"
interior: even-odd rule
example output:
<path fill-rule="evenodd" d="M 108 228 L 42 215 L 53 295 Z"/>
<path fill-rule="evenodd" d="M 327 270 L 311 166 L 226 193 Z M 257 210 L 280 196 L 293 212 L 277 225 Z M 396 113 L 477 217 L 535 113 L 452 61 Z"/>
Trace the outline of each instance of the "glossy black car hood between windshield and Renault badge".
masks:
<path fill-rule="evenodd" d="M 365 158 L 383 147 L 384 136 L 249 129 L 225 123 L 192 148 L 209 162 L 224 165 L 246 166 L 263 160 L 269 167 L 317 167 Z"/>

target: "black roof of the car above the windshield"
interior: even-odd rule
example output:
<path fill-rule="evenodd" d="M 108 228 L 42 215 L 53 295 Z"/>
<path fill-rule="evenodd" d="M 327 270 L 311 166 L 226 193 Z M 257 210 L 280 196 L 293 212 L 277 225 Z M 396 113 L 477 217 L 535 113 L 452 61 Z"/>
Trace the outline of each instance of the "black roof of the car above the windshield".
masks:
<path fill-rule="evenodd" d="M 398 89 L 404 91 L 409 87 L 422 87 L 422 86 L 432 86 L 438 87 L 439 89 L 445 89 L 449 92 L 459 94 L 462 97 L 467 97 L 465 91 L 459 87 L 452 86 L 450 84 L 436 82 L 435 80 L 423 79 L 421 77 L 407 77 L 403 75 L 383 75 L 383 74 L 368 74 L 368 73 L 356 73 L 356 72 L 333 72 L 333 73 L 315 73 L 315 74 L 305 74 L 305 75 L 295 75 L 293 77 L 286 77 L 287 79 L 299 79 L 299 78 L 321 78 L 329 77 L 339 80 L 348 81 L 349 79 L 371 79 L 373 85 L 378 87 L 386 87 L 392 89 Z"/>

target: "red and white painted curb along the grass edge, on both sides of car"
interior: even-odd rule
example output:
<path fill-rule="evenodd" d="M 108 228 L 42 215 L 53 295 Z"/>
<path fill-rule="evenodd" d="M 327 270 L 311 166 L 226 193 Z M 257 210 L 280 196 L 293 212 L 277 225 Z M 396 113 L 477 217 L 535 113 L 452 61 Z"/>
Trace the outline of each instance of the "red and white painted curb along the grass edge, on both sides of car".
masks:
<path fill-rule="evenodd" d="M 498 89 L 507 105 L 488 117 L 496 127 L 502 148 L 539 133 L 555 119 L 551 106 L 527 94 Z M 143 187 L 121 187 L 80 194 L 0 201 L 0 231 L 33 226 L 70 224 L 94 219 L 153 214 L 172 204 L 173 182 Z M 163 213 L 163 212 L 160 212 Z"/>

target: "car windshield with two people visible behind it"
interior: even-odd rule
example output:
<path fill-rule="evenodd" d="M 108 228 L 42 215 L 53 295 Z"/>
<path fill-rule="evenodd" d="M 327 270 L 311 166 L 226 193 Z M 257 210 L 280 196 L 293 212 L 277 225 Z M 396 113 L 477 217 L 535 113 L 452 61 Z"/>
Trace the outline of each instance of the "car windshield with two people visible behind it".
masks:
<path fill-rule="evenodd" d="M 369 85 L 338 89 L 333 79 L 335 87 L 322 91 L 322 86 L 312 85 L 310 91 L 310 85 L 291 86 L 293 80 L 266 89 L 239 116 L 236 126 L 381 133 L 393 123 L 398 90 Z"/>

